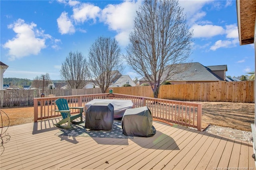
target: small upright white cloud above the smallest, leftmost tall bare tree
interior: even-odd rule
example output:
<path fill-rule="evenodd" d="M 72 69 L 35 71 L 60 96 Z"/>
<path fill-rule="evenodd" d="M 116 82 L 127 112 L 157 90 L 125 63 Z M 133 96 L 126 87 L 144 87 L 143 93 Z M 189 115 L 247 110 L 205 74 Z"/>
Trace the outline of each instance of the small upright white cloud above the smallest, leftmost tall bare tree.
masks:
<path fill-rule="evenodd" d="M 62 12 L 60 17 L 57 19 L 59 32 L 61 34 L 73 34 L 75 32 L 74 25 L 68 18 L 67 12 Z"/>

